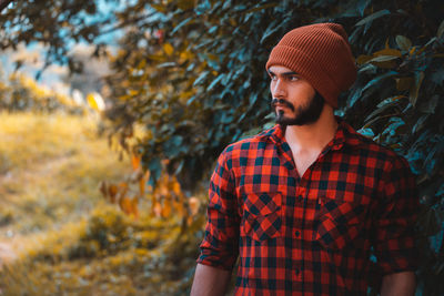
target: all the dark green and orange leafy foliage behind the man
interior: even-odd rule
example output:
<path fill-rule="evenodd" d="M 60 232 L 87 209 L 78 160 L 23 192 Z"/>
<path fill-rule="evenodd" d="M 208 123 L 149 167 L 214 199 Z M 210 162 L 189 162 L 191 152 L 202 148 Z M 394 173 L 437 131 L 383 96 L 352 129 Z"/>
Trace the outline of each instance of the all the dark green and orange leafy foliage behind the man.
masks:
<path fill-rule="evenodd" d="M 201 190 L 199 182 L 208 180 L 228 143 L 270 124 L 263 65 L 283 33 L 316 21 L 342 23 L 360 72 L 337 113 L 410 161 L 423 205 L 420 284 L 425 295 L 444 293 L 438 282 L 444 273 L 442 1 L 139 0 L 83 27 L 78 24 L 97 2 L 46 3 L 54 12 L 38 1 L 20 1 L 1 16 L 6 28 L 29 25 L 0 35 L 3 48 L 37 40 L 50 45 L 48 59 L 67 61 L 62 39 L 93 42 L 115 18 L 113 28 L 124 28 L 124 35 L 111 57 L 114 106 L 107 115 L 122 145 L 141 155 L 151 185 L 167 171 L 185 193 Z M 43 18 L 31 25 L 37 11 Z M 147 133 L 127 145 L 135 123 Z"/>

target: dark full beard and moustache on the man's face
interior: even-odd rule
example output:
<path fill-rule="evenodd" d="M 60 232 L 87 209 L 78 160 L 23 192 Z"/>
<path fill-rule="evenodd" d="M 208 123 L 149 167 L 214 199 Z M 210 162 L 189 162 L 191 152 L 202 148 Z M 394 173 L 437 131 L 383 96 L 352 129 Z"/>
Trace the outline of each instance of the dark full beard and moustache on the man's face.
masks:
<path fill-rule="evenodd" d="M 307 104 L 301 105 L 297 109 L 295 109 L 289 101 L 282 99 L 273 99 L 271 102 L 272 108 L 275 108 L 278 103 L 289 108 L 295 113 L 293 118 L 287 118 L 284 115 L 284 111 L 281 110 L 280 112 L 276 112 L 276 123 L 286 126 L 315 123 L 321 116 L 325 101 L 324 98 L 316 92 Z"/>

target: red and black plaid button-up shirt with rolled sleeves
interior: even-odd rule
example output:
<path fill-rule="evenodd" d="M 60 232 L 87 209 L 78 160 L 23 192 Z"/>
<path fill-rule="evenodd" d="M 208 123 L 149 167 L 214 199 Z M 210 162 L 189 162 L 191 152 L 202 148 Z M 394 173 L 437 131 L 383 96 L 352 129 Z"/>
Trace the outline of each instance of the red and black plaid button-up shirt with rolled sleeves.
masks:
<path fill-rule="evenodd" d="M 239 255 L 235 295 L 365 295 L 373 253 L 381 275 L 416 267 L 415 193 L 407 162 L 343 121 L 301 177 L 276 125 L 220 155 L 198 263 Z"/>

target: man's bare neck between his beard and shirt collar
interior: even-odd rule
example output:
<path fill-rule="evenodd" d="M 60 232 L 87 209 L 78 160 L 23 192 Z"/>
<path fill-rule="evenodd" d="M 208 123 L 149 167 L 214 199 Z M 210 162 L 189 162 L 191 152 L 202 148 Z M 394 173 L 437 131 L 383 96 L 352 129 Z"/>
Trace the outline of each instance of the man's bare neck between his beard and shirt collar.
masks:
<path fill-rule="evenodd" d="M 289 125 L 285 140 L 294 152 L 322 150 L 336 133 L 337 122 L 333 108 L 324 104 L 320 119 L 307 125 Z"/>

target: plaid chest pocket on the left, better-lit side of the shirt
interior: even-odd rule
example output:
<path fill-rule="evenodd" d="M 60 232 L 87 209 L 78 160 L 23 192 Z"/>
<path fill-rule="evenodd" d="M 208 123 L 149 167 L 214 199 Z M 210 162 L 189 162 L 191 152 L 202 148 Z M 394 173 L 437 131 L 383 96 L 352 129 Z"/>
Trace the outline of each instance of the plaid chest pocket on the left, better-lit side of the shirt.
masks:
<path fill-rule="evenodd" d="M 241 235 L 266 241 L 281 234 L 282 194 L 249 193 L 244 197 Z"/>

